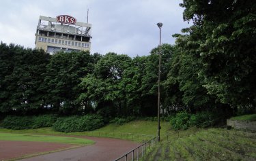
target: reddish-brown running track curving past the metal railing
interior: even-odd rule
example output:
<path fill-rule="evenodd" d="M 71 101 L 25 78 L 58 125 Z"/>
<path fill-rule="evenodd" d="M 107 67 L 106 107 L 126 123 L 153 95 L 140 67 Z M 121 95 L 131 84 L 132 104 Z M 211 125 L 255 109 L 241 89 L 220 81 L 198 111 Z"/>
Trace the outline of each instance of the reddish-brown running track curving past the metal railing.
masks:
<path fill-rule="evenodd" d="M 94 145 L 87 145 L 85 147 L 78 147 L 51 154 L 44 154 L 42 156 L 25 158 L 22 161 L 107 161 L 114 160 L 115 158 L 122 156 L 122 154 L 125 154 L 126 152 L 130 151 L 130 149 L 139 145 L 139 143 L 134 143 L 132 141 L 126 141 L 122 139 L 99 137 L 84 138 L 96 141 L 96 143 Z"/>

